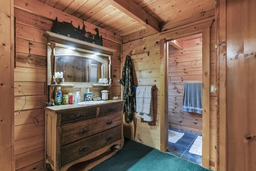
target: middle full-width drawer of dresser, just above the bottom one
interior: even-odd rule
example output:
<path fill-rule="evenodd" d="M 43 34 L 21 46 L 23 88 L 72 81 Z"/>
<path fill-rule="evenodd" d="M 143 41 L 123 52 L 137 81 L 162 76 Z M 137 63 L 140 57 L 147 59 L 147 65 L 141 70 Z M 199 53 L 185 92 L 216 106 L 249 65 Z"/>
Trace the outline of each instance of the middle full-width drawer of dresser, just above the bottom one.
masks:
<path fill-rule="evenodd" d="M 121 125 L 121 114 L 116 112 L 100 118 L 92 118 L 74 124 L 61 126 L 60 128 L 60 145 L 81 140 L 88 136 L 108 130 L 115 126 Z"/>

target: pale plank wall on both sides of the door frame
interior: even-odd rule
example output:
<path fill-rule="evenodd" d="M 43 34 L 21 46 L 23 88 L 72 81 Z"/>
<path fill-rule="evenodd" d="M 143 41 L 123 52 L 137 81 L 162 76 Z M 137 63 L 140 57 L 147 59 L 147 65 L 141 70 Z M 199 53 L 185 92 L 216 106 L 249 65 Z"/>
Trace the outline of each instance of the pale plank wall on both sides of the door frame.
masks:
<path fill-rule="evenodd" d="M 215 85 L 215 37 L 214 24 L 210 27 L 210 85 Z M 167 33 L 166 33 L 167 34 Z M 145 35 L 145 37 L 141 37 Z M 177 35 L 178 36 L 178 35 Z M 164 37 L 161 34 L 160 37 Z M 137 34 L 133 33 L 124 37 L 127 41 L 122 46 L 122 66 L 126 55 L 140 54 L 148 52 L 145 57 L 132 57 L 133 76 L 135 85 L 156 85 L 156 91 L 153 92 L 153 107 L 155 115 L 155 126 L 142 122 L 140 118 L 135 117 L 131 123 L 124 123 L 124 136 L 137 142 L 149 145 L 156 149 L 160 149 L 160 43 L 157 40 L 157 35 L 152 35 L 149 31 L 142 34 L 141 31 Z M 182 88 L 180 88 L 182 89 Z M 209 87 L 210 90 L 210 87 Z M 215 170 L 215 121 L 216 121 L 216 93 L 210 93 L 210 144 L 209 144 L 209 160 L 210 169 Z M 206 128 L 207 130 L 207 128 Z"/>

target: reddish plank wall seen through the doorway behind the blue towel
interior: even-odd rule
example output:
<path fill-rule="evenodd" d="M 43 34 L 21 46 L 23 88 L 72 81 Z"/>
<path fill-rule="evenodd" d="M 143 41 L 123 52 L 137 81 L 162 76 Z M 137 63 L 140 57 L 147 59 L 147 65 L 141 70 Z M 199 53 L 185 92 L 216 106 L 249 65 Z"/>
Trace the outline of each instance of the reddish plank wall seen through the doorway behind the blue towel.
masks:
<path fill-rule="evenodd" d="M 202 114 L 182 111 L 184 82 L 202 83 L 202 34 L 182 41 L 182 49 L 169 45 L 168 53 L 169 128 L 202 134 Z"/>

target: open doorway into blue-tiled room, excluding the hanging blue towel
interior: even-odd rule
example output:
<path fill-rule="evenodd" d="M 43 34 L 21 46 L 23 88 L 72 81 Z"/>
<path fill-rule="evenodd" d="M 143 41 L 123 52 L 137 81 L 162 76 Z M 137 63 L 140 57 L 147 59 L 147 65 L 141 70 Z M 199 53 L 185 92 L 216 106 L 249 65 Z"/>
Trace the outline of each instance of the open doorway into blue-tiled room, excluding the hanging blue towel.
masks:
<path fill-rule="evenodd" d="M 202 165 L 202 33 L 167 41 L 167 152 Z M 182 110 L 184 84 L 197 85 L 198 112 Z M 198 107 L 198 106 L 192 106 Z"/>

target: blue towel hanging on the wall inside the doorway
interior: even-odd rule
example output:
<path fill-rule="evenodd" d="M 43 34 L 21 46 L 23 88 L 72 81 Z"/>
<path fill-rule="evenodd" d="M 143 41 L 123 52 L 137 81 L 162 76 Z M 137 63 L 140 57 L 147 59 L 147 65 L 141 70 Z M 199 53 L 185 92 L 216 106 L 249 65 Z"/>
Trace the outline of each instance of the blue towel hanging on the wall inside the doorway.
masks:
<path fill-rule="evenodd" d="M 202 83 L 184 83 L 182 110 L 202 114 Z"/>

